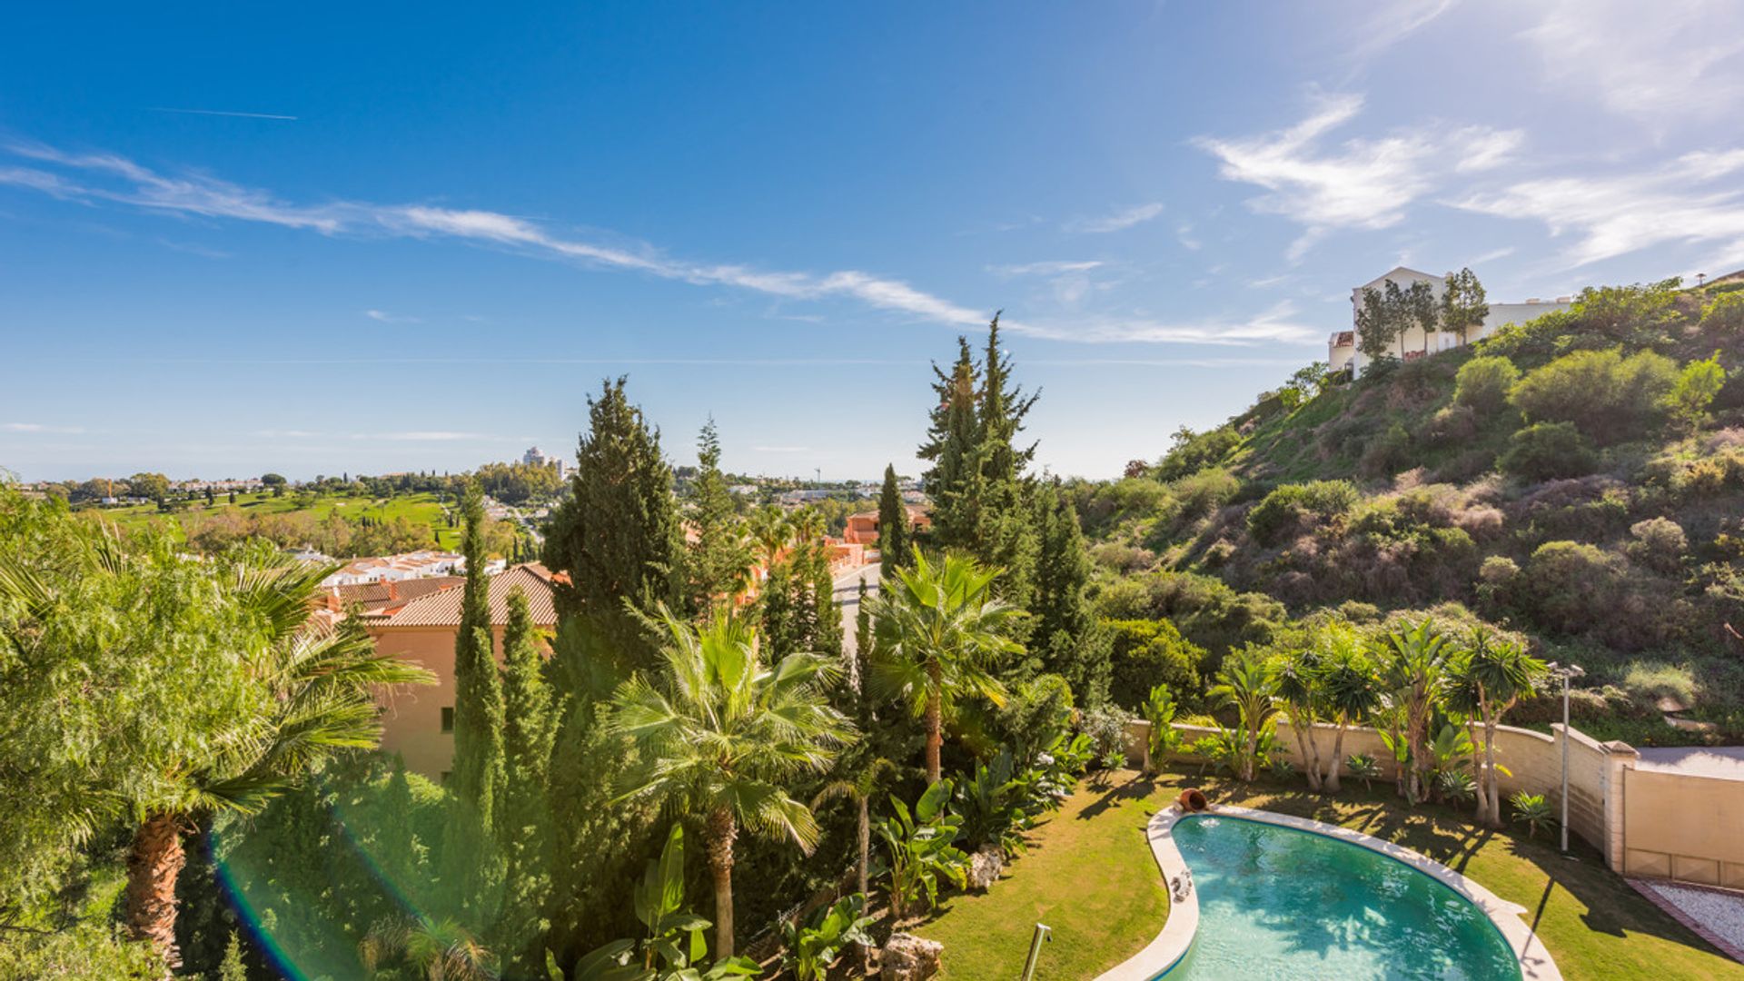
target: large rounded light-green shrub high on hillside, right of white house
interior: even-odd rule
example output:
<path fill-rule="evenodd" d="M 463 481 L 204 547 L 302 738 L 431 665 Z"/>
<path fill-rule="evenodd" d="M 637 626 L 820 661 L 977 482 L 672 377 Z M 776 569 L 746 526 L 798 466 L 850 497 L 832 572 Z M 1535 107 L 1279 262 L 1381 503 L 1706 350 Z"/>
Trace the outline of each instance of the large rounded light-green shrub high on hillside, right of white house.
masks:
<path fill-rule="evenodd" d="M 1531 422 L 1573 422 L 1610 443 L 1657 424 L 1676 384 L 1676 361 L 1653 351 L 1575 351 L 1523 377 L 1509 401 Z"/>

